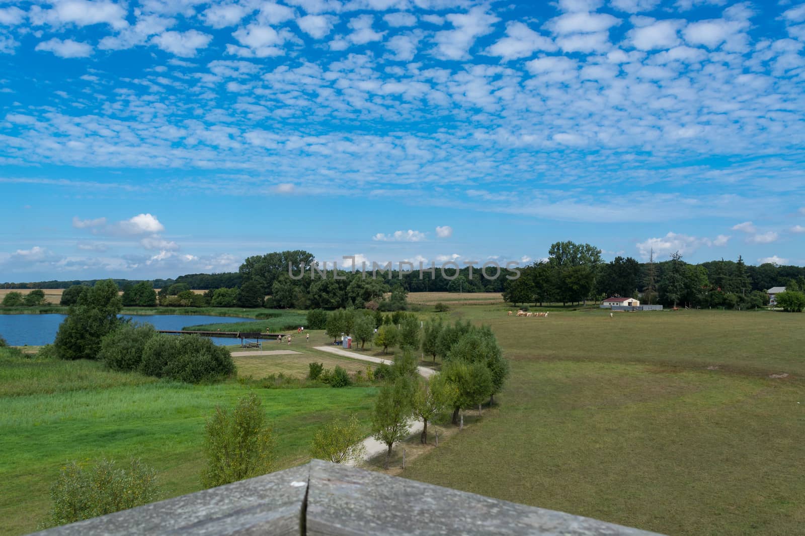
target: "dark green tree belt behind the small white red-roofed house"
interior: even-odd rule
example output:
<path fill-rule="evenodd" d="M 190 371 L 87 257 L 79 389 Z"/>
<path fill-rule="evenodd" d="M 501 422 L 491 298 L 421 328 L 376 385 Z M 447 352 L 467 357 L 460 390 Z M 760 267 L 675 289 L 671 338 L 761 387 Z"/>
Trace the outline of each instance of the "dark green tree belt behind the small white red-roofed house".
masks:
<path fill-rule="evenodd" d="M 740 256 L 734 262 L 688 264 L 678 252 L 659 262 L 651 252 L 647 263 L 621 256 L 605 263 L 600 249 L 573 242 L 552 244 L 548 255 L 506 284 L 504 300 L 543 305 L 639 297 L 645 304 L 749 309 L 768 305 L 768 288 L 805 284 L 803 268 L 749 266 Z"/>

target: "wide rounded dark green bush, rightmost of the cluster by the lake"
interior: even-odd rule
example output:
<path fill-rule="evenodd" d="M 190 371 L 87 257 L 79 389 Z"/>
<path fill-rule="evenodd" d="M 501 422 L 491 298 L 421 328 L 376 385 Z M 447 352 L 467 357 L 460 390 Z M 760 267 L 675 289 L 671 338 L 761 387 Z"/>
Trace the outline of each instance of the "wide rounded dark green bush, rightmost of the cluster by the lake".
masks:
<path fill-rule="evenodd" d="M 157 378 L 200 383 L 232 374 L 235 363 L 229 350 L 208 338 L 157 334 L 142 350 L 139 370 Z"/>

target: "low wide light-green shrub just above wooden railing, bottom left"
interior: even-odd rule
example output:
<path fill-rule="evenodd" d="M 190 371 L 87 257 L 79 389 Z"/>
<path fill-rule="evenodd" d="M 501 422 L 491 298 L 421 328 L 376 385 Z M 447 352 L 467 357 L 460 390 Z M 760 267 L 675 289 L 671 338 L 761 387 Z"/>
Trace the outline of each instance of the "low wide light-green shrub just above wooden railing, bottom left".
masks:
<path fill-rule="evenodd" d="M 115 467 L 112 460 L 100 460 L 92 468 L 68 464 L 51 486 L 47 524 L 64 525 L 156 501 L 162 492 L 155 474 L 139 460 L 131 460 L 128 470 Z"/>

